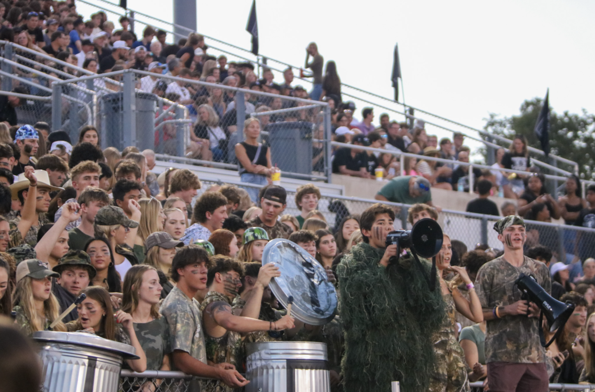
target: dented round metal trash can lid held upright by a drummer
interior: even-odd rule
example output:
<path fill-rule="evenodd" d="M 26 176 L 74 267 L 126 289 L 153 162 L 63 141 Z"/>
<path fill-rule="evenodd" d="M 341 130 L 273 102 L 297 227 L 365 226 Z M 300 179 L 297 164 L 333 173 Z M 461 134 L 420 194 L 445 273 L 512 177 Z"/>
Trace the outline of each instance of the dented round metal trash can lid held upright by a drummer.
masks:
<path fill-rule="evenodd" d="M 337 292 L 324 267 L 302 247 L 288 239 L 269 241 L 262 253 L 262 265 L 274 263 L 281 276 L 271 279 L 270 288 L 284 307 L 293 296 L 292 314 L 311 325 L 330 322 L 337 312 Z"/>

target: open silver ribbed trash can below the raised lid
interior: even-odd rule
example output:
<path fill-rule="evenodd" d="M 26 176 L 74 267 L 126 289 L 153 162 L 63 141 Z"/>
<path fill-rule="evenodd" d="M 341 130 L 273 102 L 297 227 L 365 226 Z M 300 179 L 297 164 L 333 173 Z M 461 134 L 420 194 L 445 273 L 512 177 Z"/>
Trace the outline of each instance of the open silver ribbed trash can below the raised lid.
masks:
<path fill-rule="evenodd" d="M 246 343 L 246 392 L 330 392 L 327 345 L 306 341 Z"/>

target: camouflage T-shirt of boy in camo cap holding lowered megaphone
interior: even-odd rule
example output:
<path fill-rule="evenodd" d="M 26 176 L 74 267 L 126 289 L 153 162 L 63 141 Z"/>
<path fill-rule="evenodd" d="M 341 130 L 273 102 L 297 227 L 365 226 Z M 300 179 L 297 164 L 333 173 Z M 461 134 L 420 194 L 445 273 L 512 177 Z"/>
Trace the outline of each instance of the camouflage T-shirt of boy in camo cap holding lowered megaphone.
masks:
<path fill-rule="evenodd" d="M 494 306 L 505 306 L 521 300 L 522 293 L 515 286 L 521 273 L 535 276 L 547 293 L 552 291 L 546 265 L 525 256 L 522 265 L 515 267 L 502 256 L 484 264 L 477 273 L 475 290 L 481 307 L 491 310 Z M 546 362 L 546 350 L 541 347 L 538 328 L 538 318 L 525 315 L 487 321 L 486 362 Z"/>

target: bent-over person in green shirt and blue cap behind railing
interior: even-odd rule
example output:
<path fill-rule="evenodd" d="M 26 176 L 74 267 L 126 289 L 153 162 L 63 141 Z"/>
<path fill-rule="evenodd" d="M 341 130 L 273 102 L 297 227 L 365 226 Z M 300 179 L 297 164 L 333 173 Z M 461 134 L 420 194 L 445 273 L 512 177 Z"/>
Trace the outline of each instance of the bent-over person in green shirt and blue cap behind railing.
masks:
<path fill-rule="evenodd" d="M 419 176 L 393 178 L 378 191 L 374 198 L 403 204 L 425 203 L 433 207 L 430 182 Z"/>

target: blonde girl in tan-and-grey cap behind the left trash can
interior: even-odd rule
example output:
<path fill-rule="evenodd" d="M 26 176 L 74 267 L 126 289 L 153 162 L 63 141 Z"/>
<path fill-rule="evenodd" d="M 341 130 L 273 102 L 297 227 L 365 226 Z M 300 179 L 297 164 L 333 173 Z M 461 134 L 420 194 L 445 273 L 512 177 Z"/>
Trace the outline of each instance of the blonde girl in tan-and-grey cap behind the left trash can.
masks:
<path fill-rule="evenodd" d="M 46 331 L 60 315 L 60 304 L 51 291 L 52 277 L 60 278 L 60 274 L 49 270 L 41 260 L 29 259 L 18 263 L 15 289 L 18 304 L 13 311 L 18 328 L 29 337 L 33 332 Z M 42 314 L 39 314 L 40 309 Z M 64 323 L 58 322 L 54 331 L 66 331 Z"/>

